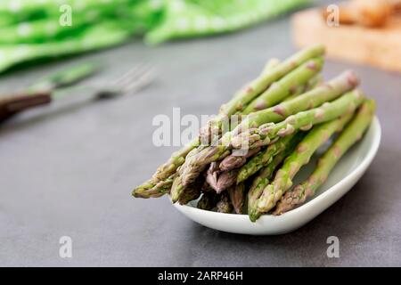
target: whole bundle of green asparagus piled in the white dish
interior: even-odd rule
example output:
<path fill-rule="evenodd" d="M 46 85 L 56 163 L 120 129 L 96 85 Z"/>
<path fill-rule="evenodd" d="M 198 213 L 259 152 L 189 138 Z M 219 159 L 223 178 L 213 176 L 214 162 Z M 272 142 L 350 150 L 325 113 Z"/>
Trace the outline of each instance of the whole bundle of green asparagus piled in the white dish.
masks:
<path fill-rule="evenodd" d="M 356 89 L 351 70 L 323 82 L 324 47 L 310 46 L 285 61 L 271 60 L 261 74 L 220 108 L 200 136 L 175 152 L 138 198 L 170 194 L 173 203 L 198 199 L 220 213 L 282 215 L 315 195 L 341 156 L 368 128 L 375 103 Z M 239 124 L 223 127 L 226 118 Z M 292 187 L 299 169 L 338 134 L 307 181 Z"/>

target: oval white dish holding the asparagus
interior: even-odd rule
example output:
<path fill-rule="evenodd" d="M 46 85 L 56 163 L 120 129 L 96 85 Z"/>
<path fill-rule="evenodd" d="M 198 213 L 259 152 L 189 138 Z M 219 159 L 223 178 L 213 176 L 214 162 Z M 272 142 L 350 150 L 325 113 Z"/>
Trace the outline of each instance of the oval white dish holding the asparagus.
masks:
<path fill-rule="evenodd" d="M 251 223 L 247 215 L 221 214 L 201 210 L 196 208 L 196 203 L 193 201 L 184 206 L 176 203 L 175 206 L 193 221 L 223 232 L 254 235 L 291 232 L 321 214 L 355 185 L 372 163 L 380 142 L 381 125 L 379 119 L 375 117 L 364 138 L 340 159 L 315 197 L 282 216 L 264 215 L 256 223 Z M 311 159 L 306 167 L 302 167 L 299 175 L 294 179 L 294 184 L 306 179 L 313 171 L 314 166 L 315 158 Z"/>

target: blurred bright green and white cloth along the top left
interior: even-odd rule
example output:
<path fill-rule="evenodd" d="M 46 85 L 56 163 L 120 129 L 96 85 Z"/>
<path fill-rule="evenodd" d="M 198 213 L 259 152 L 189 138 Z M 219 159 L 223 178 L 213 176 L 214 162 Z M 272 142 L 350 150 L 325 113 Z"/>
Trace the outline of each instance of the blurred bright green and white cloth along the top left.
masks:
<path fill-rule="evenodd" d="M 246 28 L 310 0 L 1 0 L 0 72 L 143 36 L 149 45 Z M 70 20 L 70 22 L 69 22 Z"/>

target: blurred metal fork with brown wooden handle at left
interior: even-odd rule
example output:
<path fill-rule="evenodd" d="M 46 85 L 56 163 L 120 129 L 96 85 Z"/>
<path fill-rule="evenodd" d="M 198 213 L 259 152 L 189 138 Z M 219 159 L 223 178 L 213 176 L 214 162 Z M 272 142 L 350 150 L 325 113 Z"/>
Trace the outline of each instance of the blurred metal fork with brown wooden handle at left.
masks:
<path fill-rule="evenodd" d="M 155 69 L 149 64 L 138 64 L 127 70 L 121 77 L 113 80 L 110 85 L 94 85 L 91 92 L 95 98 L 115 98 L 122 94 L 134 94 L 143 87 L 150 85 L 156 77 Z M 23 110 L 29 110 L 37 106 L 49 104 L 63 96 L 48 90 L 27 90 L 18 94 L 10 94 L 0 97 L 0 121 L 12 117 Z"/>

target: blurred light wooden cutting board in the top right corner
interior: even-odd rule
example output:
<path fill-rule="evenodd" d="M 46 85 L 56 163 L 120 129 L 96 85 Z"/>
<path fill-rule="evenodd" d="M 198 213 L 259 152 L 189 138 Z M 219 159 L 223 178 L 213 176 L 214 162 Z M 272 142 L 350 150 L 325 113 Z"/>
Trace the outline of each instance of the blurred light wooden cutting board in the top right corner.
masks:
<path fill-rule="evenodd" d="M 401 16 L 393 16 L 386 27 L 329 27 L 316 9 L 292 16 L 295 44 L 324 44 L 329 57 L 401 71 Z"/>

